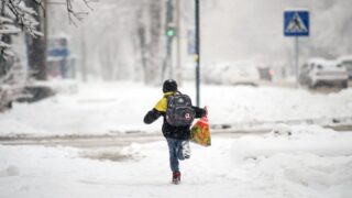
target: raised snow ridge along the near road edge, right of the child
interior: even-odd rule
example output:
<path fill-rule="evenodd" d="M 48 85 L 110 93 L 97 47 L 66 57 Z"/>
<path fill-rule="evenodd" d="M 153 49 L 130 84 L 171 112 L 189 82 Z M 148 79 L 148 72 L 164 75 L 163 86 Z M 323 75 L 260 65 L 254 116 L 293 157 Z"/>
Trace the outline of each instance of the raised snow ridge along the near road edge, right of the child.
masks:
<path fill-rule="evenodd" d="M 289 127 L 278 124 L 264 136 L 245 136 L 235 141 L 232 152 L 237 157 L 256 158 L 279 153 L 310 153 L 318 156 L 352 155 L 352 134 L 316 125 Z"/>

